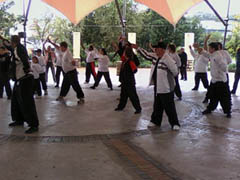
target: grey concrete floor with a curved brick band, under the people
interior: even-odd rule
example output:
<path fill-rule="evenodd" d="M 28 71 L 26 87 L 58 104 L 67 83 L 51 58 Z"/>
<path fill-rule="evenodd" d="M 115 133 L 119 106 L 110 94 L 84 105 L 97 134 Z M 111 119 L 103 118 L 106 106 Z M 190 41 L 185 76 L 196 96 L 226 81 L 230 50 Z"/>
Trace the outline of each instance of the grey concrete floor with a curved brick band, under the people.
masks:
<path fill-rule="evenodd" d="M 49 82 L 49 95 L 36 99 L 39 132 L 9 128 L 10 101 L 0 100 L 0 180 L 135 180 L 135 179 L 240 179 L 240 99 L 233 96 L 233 114 L 225 118 L 219 107 L 202 116 L 205 90 L 192 92 L 194 73 L 180 81 L 183 100 L 176 101 L 182 128 L 171 131 L 166 116 L 161 128 L 148 129 L 153 89 L 149 69 L 137 73 L 143 111 L 134 114 L 129 102 L 115 112 L 120 89 L 111 69 L 114 90 L 102 80 L 96 90 L 79 80 L 86 95 L 77 105 L 71 90 L 66 103 L 55 101 L 59 89 Z M 230 74 L 230 84 L 233 74 Z M 237 94 L 240 94 L 238 91 Z M 25 127 L 27 128 L 27 127 Z"/>

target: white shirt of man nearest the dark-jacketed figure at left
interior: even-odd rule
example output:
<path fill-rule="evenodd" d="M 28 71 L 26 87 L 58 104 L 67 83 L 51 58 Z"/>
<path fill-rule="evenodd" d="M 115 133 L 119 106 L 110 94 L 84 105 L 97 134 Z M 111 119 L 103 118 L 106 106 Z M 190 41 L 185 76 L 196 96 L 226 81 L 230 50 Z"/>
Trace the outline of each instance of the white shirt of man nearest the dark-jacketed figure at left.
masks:
<path fill-rule="evenodd" d="M 72 53 L 69 51 L 69 49 L 67 49 L 63 53 L 63 57 L 62 57 L 62 68 L 65 73 L 76 69 L 76 67 L 72 65 L 72 61 L 73 61 Z"/>

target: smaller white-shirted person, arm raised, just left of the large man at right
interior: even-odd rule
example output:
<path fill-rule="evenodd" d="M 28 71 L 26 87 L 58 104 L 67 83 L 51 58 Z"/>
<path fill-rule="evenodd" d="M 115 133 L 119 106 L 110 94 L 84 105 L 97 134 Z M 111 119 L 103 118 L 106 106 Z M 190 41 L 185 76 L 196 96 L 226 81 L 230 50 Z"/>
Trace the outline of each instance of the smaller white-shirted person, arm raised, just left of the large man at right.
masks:
<path fill-rule="evenodd" d="M 209 59 L 201 54 L 195 53 L 192 49 L 192 46 L 189 46 L 189 48 L 190 53 L 194 58 L 194 71 L 195 71 L 195 86 L 192 90 L 193 91 L 198 90 L 200 80 L 202 81 L 204 88 L 208 89 L 207 68 Z"/>

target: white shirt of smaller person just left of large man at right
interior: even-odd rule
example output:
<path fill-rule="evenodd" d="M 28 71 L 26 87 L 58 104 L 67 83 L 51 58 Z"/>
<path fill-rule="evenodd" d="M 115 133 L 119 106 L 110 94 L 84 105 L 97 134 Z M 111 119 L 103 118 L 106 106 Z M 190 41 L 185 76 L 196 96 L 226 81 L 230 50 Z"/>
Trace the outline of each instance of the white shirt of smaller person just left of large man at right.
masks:
<path fill-rule="evenodd" d="M 206 73 L 208 68 L 208 58 L 204 57 L 201 54 L 195 53 L 192 49 L 190 49 L 190 53 L 194 57 L 195 65 L 194 71 L 196 73 Z"/>

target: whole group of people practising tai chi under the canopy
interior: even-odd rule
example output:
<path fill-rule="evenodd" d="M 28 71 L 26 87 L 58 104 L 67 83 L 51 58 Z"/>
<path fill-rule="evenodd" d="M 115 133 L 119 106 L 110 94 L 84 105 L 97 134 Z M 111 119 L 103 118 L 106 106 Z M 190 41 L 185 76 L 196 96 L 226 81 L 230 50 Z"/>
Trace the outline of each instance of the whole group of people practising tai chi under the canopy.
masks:
<path fill-rule="evenodd" d="M 219 42 L 208 44 L 208 36 L 204 42 L 204 47 L 198 44 L 189 46 L 190 52 L 194 57 L 195 85 L 193 91 L 199 88 L 200 80 L 207 90 L 203 103 L 208 103 L 203 114 L 209 114 L 214 111 L 218 102 L 220 102 L 226 117 L 231 117 L 231 93 L 235 94 L 238 81 L 240 79 L 240 49 L 237 51 L 237 70 L 235 73 L 235 82 L 232 91 L 229 87 L 228 64 L 232 62 L 229 53 L 222 48 Z M 0 98 L 3 97 L 5 88 L 8 99 L 11 99 L 12 121 L 9 126 L 23 126 L 26 122 L 29 129 L 26 133 L 38 131 L 39 120 L 36 111 L 35 98 L 41 98 L 42 89 L 44 95 L 48 95 L 48 71 L 52 72 L 55 87 L 61 87 L 57 101 L 64 101 L 70 87 L 76 92 L 79 104 L 85 102 L 84 92 L 80 86 L 77 72 L 77 62 L 66 42 L 57 44 L 47 38 L 43 43 L 43 48 L 33 52 L 31 63 L 26 48 L 20 43 L 19 36 L 12 36 L 11 41 L 0 36 L 2 46 L 0 47 Z M 51 44 L 45 48 L 46 43 Z M 86 49 L 81 43 L 86 53 L 86 79 L 85 83 L 90 82 L 91 76 L 94 84 L 90 87 L 98 87 L 102 76 L 104 76 L 107 86 L 113 90 L 112 81 L 109 73 L 110 58 L 104 48 L 97 50 L 93 45 Z M 156 45 L 149 44 L 150 51 L 147 51 L 137 44 L 131 44 L 125 36 L 120 36 L 118 43 L 113 43 L 115 55 L 119 55 L 121 60 L 119 81 L 121 83 L 121 92 L 119 104 L 115 111 L 122 111 L 130 99 L 135 114 L 142 111 L 140 99 L 138 97 L 135 81 L 135 73 L 140 64 L 138 56 L 134 53 L 136 49 L 138 55 L 152 63 L 149 85 L 154 86 L 153 112 L 149 127 L 161 126 L 163 112 L 165 111 L 169 124 L 173 130 L 180 129 L 177 110 L 175 107 L 174 94 L 178 100 L 182 100 L 182 92 L 179 84 L 178 75 L 181 74 L 181 80 L 187 80 L 187 54 L 184 48 L 178 52 L 174 44 L 167 44 L 162 40 Z M 95 62 L 98 61 L 98 72 L 95 71 Z M 207 71 L 210 63 L 211 81 L 209 84 Z M 55 71 L 56 66 L 56 71 Z M 62 84 L 60 76 L 63 75 Z M 11 89 L 10 79 L 14 83 Z"/>

